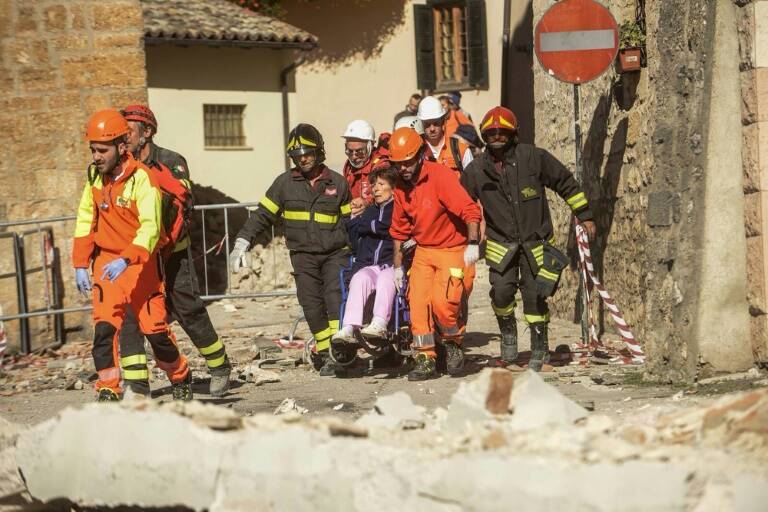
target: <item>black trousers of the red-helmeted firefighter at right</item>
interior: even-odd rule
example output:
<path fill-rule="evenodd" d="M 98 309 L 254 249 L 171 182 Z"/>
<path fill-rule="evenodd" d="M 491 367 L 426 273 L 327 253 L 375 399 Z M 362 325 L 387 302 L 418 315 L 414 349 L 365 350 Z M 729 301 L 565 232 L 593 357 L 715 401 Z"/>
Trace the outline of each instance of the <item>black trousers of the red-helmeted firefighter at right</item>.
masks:
<path fill-rule="evenodd" d="M 529 324 L 548 322 L 549 306 L 536 292 L 536 277 L 522 250 L 518 250 L 504 272 L 489 268 L 491 305 L 497 316 L 514 314 L 517 290 L 523 297 L 523 313 Z"/>

